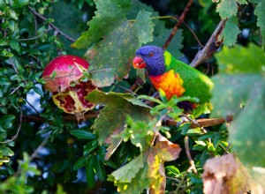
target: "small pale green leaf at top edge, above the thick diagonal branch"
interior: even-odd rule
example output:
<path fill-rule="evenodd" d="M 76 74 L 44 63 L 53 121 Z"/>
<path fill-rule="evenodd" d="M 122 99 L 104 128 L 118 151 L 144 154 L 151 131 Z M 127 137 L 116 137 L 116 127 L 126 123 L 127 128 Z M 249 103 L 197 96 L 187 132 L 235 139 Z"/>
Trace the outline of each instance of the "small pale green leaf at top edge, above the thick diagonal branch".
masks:
<path fill-rule="evenodd" d="M 227 19 L 237 15 L 238 4 L 236 0 L 222 0 L 217 4 L 216 11 L 219 12 L 222 19 Z"/>

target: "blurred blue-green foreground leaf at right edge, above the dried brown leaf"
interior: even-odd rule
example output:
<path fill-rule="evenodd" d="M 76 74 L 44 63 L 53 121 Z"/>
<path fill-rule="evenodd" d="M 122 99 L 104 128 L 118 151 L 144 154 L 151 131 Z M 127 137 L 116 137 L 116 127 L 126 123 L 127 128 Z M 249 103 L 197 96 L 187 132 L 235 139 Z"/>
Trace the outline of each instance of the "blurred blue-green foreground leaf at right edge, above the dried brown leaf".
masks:
<path fill-rule="evenodd" d="M 230 142 L 239 159 L 250 167 L 265 168 L 265 82 L 254 84 L 247 105 L 231 123 Z"/>

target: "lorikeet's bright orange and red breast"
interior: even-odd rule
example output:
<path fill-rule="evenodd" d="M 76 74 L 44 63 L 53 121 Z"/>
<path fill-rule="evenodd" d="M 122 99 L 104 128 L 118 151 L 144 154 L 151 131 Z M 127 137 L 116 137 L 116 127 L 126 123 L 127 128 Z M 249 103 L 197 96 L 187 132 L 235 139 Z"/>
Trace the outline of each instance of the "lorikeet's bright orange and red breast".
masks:
<path fill-rule="evenodd" d="M 181 96 L 185 92 L 185 88 L 182 86 L 182 78 L 173 70 L 167 71 L 160 76 L 149 76 L 149 78 L 156 90 L 162 89 L 166 93 L 168 100 L 173 95 Z"/>

